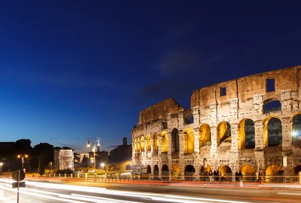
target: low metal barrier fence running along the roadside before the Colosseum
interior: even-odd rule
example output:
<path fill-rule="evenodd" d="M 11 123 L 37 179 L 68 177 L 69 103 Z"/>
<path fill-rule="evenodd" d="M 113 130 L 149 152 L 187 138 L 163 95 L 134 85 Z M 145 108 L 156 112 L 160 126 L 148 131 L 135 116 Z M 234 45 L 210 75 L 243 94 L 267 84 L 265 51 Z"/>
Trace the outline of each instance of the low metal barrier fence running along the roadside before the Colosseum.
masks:
<path fill-rule="evenodd" d="M 51 178 L 67 178 L 80 181 L 98 181 L 98 182 L 117 182 L 117 181 L 199 181 L 199 182 L 236 182 L 235 175 L 224 175 L 224 176 L 203 176 L 203 175 L 118 175 L 118 174 L 107 174 L 107 175 L 73 175 L 73 174 L 45 174 L 46 177 Z M 301 175 L 264 175 L 262 181 L 265 183 L 300 183 Z M 260 176 L 242 176 L 243 182 L 259 182 Z"/>

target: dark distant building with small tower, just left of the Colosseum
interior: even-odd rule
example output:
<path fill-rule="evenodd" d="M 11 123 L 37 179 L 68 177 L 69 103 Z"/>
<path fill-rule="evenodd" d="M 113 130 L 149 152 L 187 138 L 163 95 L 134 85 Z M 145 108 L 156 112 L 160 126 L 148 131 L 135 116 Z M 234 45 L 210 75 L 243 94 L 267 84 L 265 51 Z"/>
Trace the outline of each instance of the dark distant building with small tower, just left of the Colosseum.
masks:
<path fill-rule="evenodd" d="M 127 144 L 127 138 L 123 138 L 123 144 L 110 151 L 109 159 L 112 162 L 130 161 L 132 145 Z"/>

